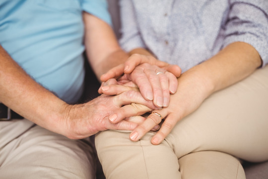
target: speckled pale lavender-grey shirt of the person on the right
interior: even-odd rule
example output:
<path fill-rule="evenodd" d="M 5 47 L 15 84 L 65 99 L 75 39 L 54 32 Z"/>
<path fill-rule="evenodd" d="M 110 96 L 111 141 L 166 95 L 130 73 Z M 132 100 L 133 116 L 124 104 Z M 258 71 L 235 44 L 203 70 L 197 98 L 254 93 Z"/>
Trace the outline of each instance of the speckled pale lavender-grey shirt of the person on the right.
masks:
<path fill-rule="evenodd" d="M 268 64 L 268 0 L 121 0 L 126 51 L 147 48 L 185 72 L 230 43 L 255 47 Z"/>

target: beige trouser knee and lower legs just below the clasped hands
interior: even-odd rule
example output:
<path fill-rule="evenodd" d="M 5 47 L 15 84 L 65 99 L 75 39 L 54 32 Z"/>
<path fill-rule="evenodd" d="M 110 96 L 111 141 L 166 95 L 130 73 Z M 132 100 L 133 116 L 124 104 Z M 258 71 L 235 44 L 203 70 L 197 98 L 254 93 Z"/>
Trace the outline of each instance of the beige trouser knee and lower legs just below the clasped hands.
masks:
<path fill-rule="evenodd" d="M 150 143 L 153 132 L 138 142 L 130 141 L 129 134 L 110 130 L 96 136 L 106 179 L 245 179 L 240 162 L 229 154 L 201 151 L 178 159 L 166 141 Z"/>

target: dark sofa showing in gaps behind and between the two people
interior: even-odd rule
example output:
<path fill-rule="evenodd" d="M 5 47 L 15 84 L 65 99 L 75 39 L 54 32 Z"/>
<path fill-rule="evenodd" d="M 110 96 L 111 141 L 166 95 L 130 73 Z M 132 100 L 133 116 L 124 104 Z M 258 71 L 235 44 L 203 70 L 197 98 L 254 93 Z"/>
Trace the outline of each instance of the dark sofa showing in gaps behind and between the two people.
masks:
<path fill-rule="evenodd" d="M 113 29 L 117 35 L 120 37 L 120 13 L 118 0 L 108 0 L 109 11 L 112 16 Z M 85 85 L 85 97 L 86 99 L 92 99 L 98 96 L 97 89 L 100 86 L 98 80 L 94 76 L 92 69 L 86 63 L 86 85 Z M 247 179 L 268 179 L 268 162 L 263 163 L 248 163 L 244 162 L 243 167 L 245 169 Z M 100 163 L 97 165 L 97 179 L 105 179 Z"/>

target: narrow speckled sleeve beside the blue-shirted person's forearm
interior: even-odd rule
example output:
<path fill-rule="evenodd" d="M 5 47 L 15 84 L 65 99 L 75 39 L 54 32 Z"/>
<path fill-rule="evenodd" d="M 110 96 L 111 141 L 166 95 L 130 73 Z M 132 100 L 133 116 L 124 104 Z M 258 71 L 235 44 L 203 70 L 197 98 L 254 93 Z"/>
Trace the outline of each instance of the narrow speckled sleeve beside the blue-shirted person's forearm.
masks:
<path fill-rule="evenodd" d="M 144 48 L 132 0 L 120 0 L 120 10 L 122 36 L 119 43 L 121 47 L 127 52 L 135 48 Z"/>

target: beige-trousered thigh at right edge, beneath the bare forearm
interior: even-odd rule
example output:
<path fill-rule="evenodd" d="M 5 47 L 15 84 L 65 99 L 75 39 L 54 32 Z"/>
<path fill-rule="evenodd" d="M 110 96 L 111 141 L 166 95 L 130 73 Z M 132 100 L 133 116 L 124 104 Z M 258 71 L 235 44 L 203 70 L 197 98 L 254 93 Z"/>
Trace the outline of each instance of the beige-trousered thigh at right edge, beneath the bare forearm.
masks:
<path fill-rule="evenodd" d="M 175 145 L 178 157 L 214 150 L 251 162 L 268 160 L 267 91 L 268 66 L 212 94 L 166 140 Z"/>

